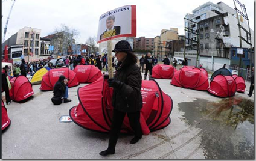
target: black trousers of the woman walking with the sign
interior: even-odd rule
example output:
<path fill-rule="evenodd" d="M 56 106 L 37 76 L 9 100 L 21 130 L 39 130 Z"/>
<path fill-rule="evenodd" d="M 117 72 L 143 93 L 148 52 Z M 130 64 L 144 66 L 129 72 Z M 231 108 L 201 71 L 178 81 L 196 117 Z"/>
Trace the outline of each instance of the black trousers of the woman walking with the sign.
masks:
<path fill-rule="evenodd" d="M 116 109 L 113 111 L 113 118 L 112 118 L 112 125 L 110 129 L 110 137 L 109 137 L 109 149 L 114 149 L 115 145 L 117 145 L 118 135 L 121 130 L 121 126 L 124 121 L 124 117 L 127 114 L 129 118 L 130 126 L 132 127 L 133 131 L 135 132 L 136 137 L 142 136 L 141 131 L 141 123 L 139 122 L 141 112 L 134 112 L 134 113 L 126 113 L 121 112 Z"/>

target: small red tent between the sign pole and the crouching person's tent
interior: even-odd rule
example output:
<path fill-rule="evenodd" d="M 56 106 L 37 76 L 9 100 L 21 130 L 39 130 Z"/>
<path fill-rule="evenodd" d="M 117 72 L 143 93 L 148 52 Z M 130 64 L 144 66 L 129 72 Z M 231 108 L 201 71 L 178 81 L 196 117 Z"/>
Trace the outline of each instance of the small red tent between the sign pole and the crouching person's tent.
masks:
<path fill-rule="evenodd" d="M 80 83 L 92 83 L 102 76 L 101 71 L 94 65 L 77 65 L 74 70 Z"/>

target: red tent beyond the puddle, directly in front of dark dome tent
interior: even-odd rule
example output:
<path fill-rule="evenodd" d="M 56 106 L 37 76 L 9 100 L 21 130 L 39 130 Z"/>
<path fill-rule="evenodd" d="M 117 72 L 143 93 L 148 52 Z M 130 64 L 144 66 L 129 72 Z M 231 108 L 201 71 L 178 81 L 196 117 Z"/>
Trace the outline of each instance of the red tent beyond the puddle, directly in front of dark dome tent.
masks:
<path fill-rule="evenodd" d="M 235 79 L 232 76 L 217 75 L 210 82 L 210 88 L 208 92 L 219 97 L 231 97 L 234 96 L 237 86 Z"/>

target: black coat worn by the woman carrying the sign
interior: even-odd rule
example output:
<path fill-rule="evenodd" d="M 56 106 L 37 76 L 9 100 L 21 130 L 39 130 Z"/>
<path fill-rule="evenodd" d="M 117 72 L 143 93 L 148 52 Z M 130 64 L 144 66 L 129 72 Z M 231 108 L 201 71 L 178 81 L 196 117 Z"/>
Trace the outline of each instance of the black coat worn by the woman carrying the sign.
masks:
<path fill-rule="evenodd" d="M 118 64 L 119 65 L 119 64 Z M 136 112 L 142 108 L 141 71 L 138 65 L 126 61 L 118 67 L 115 79 L 123 82 L 121 88 L 114 88 L 112 105 L 121 112 Z"/>

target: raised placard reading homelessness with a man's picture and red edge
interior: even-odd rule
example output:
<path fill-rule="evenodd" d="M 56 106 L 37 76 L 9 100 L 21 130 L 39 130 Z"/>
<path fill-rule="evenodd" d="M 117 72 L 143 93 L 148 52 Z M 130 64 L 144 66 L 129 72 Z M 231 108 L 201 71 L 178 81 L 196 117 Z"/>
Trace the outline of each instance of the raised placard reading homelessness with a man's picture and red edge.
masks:
<path fill-rule="evenodd" d="M 100 16 L 97 42 L 118 37 L 136 37 L 136 5 L 119 7 Z"/>

